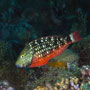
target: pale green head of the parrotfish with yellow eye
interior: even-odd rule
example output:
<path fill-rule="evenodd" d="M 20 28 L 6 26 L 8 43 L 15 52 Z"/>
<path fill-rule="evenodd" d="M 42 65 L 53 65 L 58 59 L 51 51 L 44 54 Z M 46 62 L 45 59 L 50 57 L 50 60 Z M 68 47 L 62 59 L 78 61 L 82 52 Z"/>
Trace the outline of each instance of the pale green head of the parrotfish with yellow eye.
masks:
<path fill-rule="evenodd" d="M 16 61 L 16 66 L 23 68 L 26 67 L 27 65 L 31 64 L 32 62 L 32 53 L 30 53 L 30 48 L 26 46 L 22 52 L 20 53 L 17 61 Z"/>

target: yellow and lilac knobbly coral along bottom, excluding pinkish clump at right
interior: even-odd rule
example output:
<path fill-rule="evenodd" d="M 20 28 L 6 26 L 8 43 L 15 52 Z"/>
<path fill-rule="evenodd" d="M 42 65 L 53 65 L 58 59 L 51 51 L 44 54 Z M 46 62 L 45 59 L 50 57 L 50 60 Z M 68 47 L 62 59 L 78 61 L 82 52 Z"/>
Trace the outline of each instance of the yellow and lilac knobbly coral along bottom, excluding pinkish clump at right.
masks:
<path fill-rule="evenodd" d="M 37 86 L 34 90 L 89 90 L 90 81 L 80 82 L 77 77 L 62 78 L 60 82 L 51 85 L 46 82 L 45 86 Z"/>

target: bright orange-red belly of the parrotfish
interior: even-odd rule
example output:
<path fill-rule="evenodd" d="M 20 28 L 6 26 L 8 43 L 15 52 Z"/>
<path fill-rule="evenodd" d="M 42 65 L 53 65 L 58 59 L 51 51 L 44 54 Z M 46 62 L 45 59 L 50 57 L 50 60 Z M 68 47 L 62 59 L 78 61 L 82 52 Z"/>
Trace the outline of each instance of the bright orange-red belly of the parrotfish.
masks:
<path fill-rule="evenodd" d="M 68 47 L 68 44 L 65 44 L 65 45 L 55 49 L 50 54 L 48 54 L 42 58 L 39 58 L 38 56 L 33 57 L 32 64 L 30 65 L 30 67 L 39 67 L 39 66 L 43 66 L 43 65 L 47 64 L 50 59 L 63 53 L 67 47 Z"/>

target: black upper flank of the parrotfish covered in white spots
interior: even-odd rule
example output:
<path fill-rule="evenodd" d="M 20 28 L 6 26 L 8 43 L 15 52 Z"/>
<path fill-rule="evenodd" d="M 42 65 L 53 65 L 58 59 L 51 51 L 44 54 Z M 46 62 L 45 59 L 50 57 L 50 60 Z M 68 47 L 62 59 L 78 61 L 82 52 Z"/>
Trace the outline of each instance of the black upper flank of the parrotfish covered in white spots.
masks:
<path fill-rule="evenodd" d="M 29 43 L 30 53 L 34 56 L 45 57 L 65 43 L 66 39 L 58 36 L 42 37 Z"/>

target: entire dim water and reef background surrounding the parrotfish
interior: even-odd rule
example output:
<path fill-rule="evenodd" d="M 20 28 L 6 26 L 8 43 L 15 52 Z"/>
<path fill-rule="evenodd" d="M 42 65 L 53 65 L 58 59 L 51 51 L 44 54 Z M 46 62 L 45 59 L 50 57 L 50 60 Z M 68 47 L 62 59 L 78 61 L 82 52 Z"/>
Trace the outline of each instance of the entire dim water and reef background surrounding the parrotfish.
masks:
<path fill-rule="evenodd" d="M 16 67 L 30 41 L 76 30 L 82 40 L 48 64 Z M 0 0 L 0 90 L 90 90 L 90 1 Z"/>

